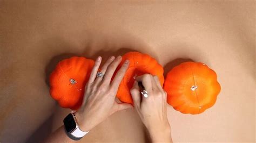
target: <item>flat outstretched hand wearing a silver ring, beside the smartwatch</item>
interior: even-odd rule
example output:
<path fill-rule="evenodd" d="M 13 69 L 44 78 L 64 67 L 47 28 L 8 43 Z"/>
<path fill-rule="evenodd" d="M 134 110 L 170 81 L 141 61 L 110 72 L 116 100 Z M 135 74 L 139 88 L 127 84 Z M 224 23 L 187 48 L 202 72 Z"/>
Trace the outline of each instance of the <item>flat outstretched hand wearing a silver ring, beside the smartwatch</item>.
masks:
<path fill-rule="evenodd" d="M 118 56 L 116 59 L 111 56 L 106 61 L 100 70 L 104 74 L 104 78 L 96 77 L 101 61 L 102 58 L 99 56 L 95 61 L 89 81 L 85 85 L 83 104 L 75 113 L 79 128 L 82 131 L 91 130 L 116 111 L 132 108 L 131 104 L 114 101 L 119 84 L 129 67 L 129 60 L 125 61 L 112 82 L 111 78 L 122 61 L 122 56 Z"/>

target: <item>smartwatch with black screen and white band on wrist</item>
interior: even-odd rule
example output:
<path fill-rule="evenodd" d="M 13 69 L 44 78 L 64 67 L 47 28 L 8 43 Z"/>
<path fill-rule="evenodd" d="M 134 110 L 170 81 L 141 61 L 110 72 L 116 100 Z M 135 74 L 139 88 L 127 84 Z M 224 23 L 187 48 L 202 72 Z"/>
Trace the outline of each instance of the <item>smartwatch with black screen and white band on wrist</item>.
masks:
<path fill-rule="evenodd" d="M 68 116 L 64 118 L 63 123 L 65 130 L 68 134 L 72 135 L 72 137 L 82 138 L 85 134 L 89 133 L 89 131 L 84 132 L 80 130 L 77 124 L 76 115 L 74 113 L 75 111 L 72 111 Z"/>

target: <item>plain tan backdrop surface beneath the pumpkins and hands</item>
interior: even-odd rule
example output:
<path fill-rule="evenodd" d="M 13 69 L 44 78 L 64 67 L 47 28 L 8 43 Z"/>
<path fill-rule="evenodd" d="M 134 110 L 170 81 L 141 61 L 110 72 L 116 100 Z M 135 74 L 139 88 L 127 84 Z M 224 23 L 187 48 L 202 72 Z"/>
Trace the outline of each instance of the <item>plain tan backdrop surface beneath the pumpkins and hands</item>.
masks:
<path fill-rule="evenodd" d="M 171 106 L 175 142 L 255 141 L 255 1 L 0 1 L 0 142 L 37 142 L 70 111 L 49 95 L 56 63 L 72 55 L 139 51 L 166 71 L 184 61 L 218 74 L 217 103 L 200 115 Z M 95 127 L 89 142 L 147 142 L 133 109 Z M 84 139 L 80 140 L 81 142 Z"/>

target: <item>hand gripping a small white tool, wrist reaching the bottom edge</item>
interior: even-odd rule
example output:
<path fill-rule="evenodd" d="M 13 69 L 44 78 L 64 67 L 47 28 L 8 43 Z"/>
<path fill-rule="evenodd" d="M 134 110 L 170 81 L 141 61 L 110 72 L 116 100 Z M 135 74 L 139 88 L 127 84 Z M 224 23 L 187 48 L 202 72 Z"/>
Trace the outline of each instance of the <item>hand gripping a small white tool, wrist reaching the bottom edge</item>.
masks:
<path fill-rule="evenodd" d="M 147 91 L 147 98 L 140 95 L 138 81 L 142 82 Z M 167 94 L 161 87 L 158 77 L 151 74 L 136 77 L 130 92 L 134 108 L 149 131 L 152 142 L 172 142 L 171 127 L 166 112 Z"/>

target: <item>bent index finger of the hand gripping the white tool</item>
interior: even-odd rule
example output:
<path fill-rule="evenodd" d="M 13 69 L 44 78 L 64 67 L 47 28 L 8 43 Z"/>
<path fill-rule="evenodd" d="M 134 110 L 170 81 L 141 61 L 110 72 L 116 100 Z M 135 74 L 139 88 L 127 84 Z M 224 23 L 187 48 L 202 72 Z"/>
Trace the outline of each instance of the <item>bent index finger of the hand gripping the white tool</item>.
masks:
<path fill-rule="evenodd" d="M 152 78 L 151 78 L 151 74 L 144 74 L 144 75 L 140 75 L 140 76 L 137 76 L 135 78 L 136 81 L 141 81 L 145 90 L 147 92 L 151 92 L 153 89 L 152 89 Z"/>

